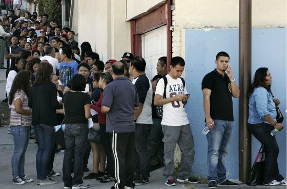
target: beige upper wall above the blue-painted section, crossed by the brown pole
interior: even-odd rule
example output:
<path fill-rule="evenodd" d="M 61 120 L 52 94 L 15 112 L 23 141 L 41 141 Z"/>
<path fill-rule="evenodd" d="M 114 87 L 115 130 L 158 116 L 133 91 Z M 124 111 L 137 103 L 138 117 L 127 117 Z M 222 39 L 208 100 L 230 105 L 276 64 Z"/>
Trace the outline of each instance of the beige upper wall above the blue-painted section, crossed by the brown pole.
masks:
<path fill-rule="evenodd" d="M 286 0 L 252 0 L 252 27 L 286 27 Z M 173 56 L 185 57 L 185 29 L 239 27 L 239 0 L 173 0 Z"/>

